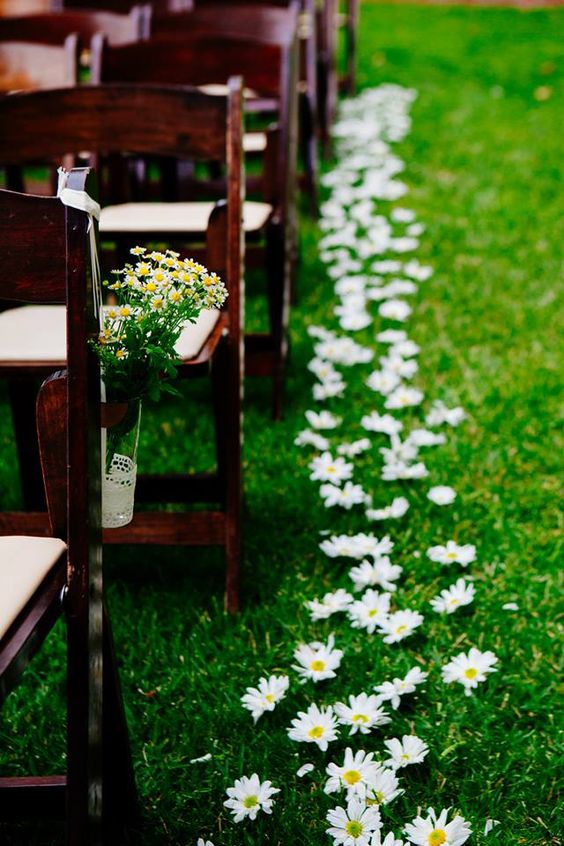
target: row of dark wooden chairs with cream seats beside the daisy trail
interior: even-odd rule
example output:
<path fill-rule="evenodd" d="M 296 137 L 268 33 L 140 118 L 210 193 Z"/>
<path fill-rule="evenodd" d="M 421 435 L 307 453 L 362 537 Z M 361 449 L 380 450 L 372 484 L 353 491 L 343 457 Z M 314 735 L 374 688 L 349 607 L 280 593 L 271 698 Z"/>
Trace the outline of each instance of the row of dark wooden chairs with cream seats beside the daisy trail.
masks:
<path fill-rule="evenodd" d="M 272 378 L 274 415 L 281 413 L 298 246 L 298 121 L 303 127 L 308 115 L 299 105 L 300 9 L 247 5 L 239 29 L 206 14 L 192 29 L 171 34 L 163 24 L 155 36 L 136 8 L 125 15 L 135 38 L 117 43 L 117 28 L 104 34 L 101 24 L 93 38 L 82 35 L 90 84 L 0 96 L 0 376 L 27 505 L 0 514 L 0 704 L 61 614 L 68 642 L 67 772 L 0 778 L 0 822 L 64 811 L 72 846 L 125 843 L 138 817 L 102 546 L 222 546 L 227 608 L 237 610 L 245 370 Z M 162 9 L 151 17 L 167 20 Z M 73 55 L 77 40 L 68 42 Z M 251 125 L 260 130 L 261 160 L 245 177 Z M 141 476 L 137 498 L 147 507 L 119 529 L 102 530 L 100 520 L 100 374 L 87 343 L 98 330 L 89 267 L 96 224 L 31 193 L 52 193 L 49 173 L 61 162 L 72 167 L 68 187 L 102 200 L 103 259 L 121 261 L 136 243 L 166 243 L 203 260 L 229 291 L 225 310 L 186 327 L 179 350 L 183 377 L 211 380 L 216 469 Z M 244 333 L 243 265 L 264 272 L 268 333 Z M 204 507 L 149 510 L 155 502 Z"/>

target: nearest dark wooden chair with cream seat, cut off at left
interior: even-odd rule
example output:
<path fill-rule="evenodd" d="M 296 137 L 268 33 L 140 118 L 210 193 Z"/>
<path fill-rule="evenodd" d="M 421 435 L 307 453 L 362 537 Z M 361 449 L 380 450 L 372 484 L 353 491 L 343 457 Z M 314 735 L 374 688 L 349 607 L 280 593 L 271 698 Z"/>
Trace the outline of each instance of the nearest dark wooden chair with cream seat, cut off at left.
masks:
<path fill-rule="evenodd" d="M 72 172 L 68 187 L 83 191 L 87 172 Z M 110 819 L 123 821 L 136 811 L 103 600 L 100 376 L 87 345 L 98 328 L 88 224 L 84 212 L 57 198 L 0 191 L 0 297 L 35 308 L 66 303 L 67 329 L 67 370 L 43 384 L 37 401 L 47 531 L 23 535 L 22 523 L 16 536 L 0 536 L 0 704 L 61 614 L 68 703 L 66 776 L 1 777 L 0 821 L 64 815 L 66 807 L 69 846 L 103 838 L 123 843 L 123 831 Z"/>

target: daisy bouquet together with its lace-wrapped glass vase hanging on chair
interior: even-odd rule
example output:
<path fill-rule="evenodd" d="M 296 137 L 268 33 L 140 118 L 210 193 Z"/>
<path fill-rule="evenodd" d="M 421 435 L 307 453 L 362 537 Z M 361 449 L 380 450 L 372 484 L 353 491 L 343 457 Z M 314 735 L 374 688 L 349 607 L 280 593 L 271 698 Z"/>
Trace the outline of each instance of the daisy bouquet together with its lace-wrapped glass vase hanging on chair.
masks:
<path fill-rule="evenodd" d="M 103 285 L 113 302 L 104 306 L 103 325 L 93 347 L 100 360 L 106 401 L 106 464 L 102 523 L 124 526 L 133 516 L 141 400 L 176 393 L 170 380 L 180 359 L 176 343 L 187 323 L 203 309 L 219 308 L 227 290 L 215 273 L 172 250 L 133 247 L 135 264 L 112 271 Z"/>

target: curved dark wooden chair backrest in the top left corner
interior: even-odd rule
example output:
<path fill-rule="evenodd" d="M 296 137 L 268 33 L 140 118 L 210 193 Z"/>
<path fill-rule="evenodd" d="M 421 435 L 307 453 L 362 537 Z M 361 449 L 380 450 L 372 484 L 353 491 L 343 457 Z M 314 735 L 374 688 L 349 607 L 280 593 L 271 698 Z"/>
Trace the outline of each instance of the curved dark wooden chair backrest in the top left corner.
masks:
<path fill-rule="evenodd" d="M 110 44 L 128 44 L 147 37 L 150 11 L 150 6 L 139 5 L 127 14 L 77 9 L 0 18 L 0 41 L 57 45 L 76 33 L 81 46 L 87 47 L 96 32 L 103 32 Z"/>

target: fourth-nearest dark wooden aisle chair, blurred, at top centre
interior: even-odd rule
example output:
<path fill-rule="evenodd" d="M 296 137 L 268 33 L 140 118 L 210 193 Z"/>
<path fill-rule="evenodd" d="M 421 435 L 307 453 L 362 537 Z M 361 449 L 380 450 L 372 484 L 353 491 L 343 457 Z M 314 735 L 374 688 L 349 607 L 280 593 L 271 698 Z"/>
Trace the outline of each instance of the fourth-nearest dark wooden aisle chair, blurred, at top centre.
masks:
<path fill-rule="evenodd" d="M 311 9 L 309 7 L 312 7 Z M 304 163 L 303 186 L 312 215 L 318 210 L 317 162 L 317 78 L 315 58 L 315 27 L 313 26 L 313 0 L 289 0 L 280 5 L 263 5 L 253 0 L 199 0 L 196 8 L 187 14 L 155 13 L 152 17 L 153 35 L 174 32 L 201 33 L 204 35 L 244 36 L 262 43 L 290 44 L 296 32 L 300 39 L 300 91 L 299 135 Z M 269 104 L 265 104 L 268 110 Z M 260 104 L 254 103 L 258 111 Z M 270 108 L 272 108 L 270 104 Z M 243 147 L 248 152 L 264 150 L 264 143 L 256 136 L 245 136 Z"/>

